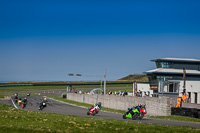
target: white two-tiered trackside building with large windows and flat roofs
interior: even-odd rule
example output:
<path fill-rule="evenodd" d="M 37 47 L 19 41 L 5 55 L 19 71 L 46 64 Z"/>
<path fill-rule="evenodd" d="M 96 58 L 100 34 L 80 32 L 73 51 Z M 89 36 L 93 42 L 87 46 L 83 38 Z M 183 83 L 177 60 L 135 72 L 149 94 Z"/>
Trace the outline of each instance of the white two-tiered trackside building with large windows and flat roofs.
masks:
<path fill-rule="evenodd" d="M 185 92 L 190 103 L 200 104 L 200 60 L 161 58 L 151 61 L 157 68 L 145 72 L 149 83 L 138 83 L 137 90 L 157 97 L 178 97 Z"/>

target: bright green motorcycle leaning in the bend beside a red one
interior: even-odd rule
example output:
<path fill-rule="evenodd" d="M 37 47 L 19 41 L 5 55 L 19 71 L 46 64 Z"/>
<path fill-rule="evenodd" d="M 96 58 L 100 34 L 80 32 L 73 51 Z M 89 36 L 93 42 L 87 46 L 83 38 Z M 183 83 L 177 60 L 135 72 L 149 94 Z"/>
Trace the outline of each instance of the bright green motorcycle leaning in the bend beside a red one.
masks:
<path fill-rule="evenodd" d="M 140 116 L 140 111 L 139 111 L 138 107 L 136 106 L 136 107 L 131 108 L 131 109 L 128 108 L 128 111 L 123 115 L 123 119 L 130 118 L 130 119 L 135 120 L 139 116 Z"/>

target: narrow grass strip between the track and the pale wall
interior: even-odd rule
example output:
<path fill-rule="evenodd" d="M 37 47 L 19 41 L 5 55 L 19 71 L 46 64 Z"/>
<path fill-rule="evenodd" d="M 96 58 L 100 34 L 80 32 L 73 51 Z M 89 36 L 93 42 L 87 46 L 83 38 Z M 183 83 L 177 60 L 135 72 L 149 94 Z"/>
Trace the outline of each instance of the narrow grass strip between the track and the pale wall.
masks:
<path fill-rule="evenodd" d="M 51 98 L 59 100 L 59 101 L 63 101 L 63 102 L 66 102 L 66 103 L 74 104 L 74 105 L 77 105 L 77 106 L 87 107 L 87 108 L 92 106 L 92 104 L 80 103 L 80 102 L 68 100 L 68 99 L 65 99 L 65 98 L 62 98 L 62 97 L 58 97 L 58 96 L 51 96 Z M 105 107 L 102 107 L 101 110 L 108 111 L 108 112 L 113 112 L 113 113 L 120 113 L 120 114 L 124 114 L 126 112 L 124 110 L 116 110 L 116 109 L 110 109 L 110 108 L 105 108 Z M 200 123 L 200 119 L 191 118 L 191 117 L 184 117 L 184 116 L 177 116 L 177 115 L 172 115 L 172 116 L 150 116 L 150 115 L 145 115 L 145 117 L 154 118 L 154 119 L 164 119 L 164 120 L 175 120 L 175 121 L 186 121 L 186 122 Z"/>

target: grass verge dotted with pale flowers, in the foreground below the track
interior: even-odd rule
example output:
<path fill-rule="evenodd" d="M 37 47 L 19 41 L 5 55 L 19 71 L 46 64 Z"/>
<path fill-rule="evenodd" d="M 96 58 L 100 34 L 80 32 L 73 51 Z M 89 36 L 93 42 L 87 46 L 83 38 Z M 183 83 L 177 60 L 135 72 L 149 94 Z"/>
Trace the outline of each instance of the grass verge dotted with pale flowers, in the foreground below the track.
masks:
<path fill-rule="evenodd" d="M 77 133 L 77 132 L 137 132 L 137 133 L 198 133 L 200 128 L 154 125 L 120 120 L 95 119 L 15 109 L 0 104 L 2 133 Z"/>

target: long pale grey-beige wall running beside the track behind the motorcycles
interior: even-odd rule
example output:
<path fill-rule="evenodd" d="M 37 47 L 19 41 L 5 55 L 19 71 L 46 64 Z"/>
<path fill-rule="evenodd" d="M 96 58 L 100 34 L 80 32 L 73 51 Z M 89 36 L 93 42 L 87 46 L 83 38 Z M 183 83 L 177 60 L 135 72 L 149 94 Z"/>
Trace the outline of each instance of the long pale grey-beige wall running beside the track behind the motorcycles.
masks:
<path fill-rule="evenodd" d="M 124 110 L 138 104 L 146 104 L 149 115 L 168 116 L 171 115 L 171 107 L 176 104 L 176 99 L 169 97 L 134 97 L 134 96 L 114 96 L 114 95 L 88 95 L 88 94 L 67 94 L 67 99 L 95 104 L 101 102 L 103 107 Z"/>

